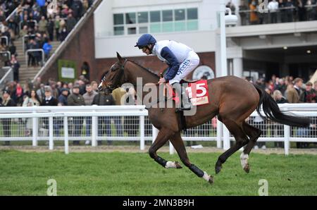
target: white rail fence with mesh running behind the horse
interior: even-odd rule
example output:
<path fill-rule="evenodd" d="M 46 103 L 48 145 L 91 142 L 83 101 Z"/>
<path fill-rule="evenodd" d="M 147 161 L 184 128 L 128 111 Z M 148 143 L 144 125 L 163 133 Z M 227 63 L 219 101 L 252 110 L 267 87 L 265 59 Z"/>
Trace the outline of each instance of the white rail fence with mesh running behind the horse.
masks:
<path fill-rule="evenodd" d="M 290 111 L 311 118 L 310 128 L 291 128 L 268 121 L 255 122 L 257 113 L 251 114 L 249 123 L 260 126 L 263 135 L 258 142 L 284 142 L 285 154 L 289 154 L 290 142 L 317 142 L 317 104 L 280 104 L 282 111 Z M 49 141 L 54 149 L 55 141 L 64 141 L 68 154 L 68 141 L 139 141 L 144 149 L 145 141 L 154 141 L 157 130 L 147 118 L 144 106 L 26 106 L 0 107 L 0 141 Z M 216 141 L 218 148 L 228 149 L 234 138 L 216 119 L 182 133 L 185 141 Z M 173 146 L 170 144 L 170 153 Z"/>

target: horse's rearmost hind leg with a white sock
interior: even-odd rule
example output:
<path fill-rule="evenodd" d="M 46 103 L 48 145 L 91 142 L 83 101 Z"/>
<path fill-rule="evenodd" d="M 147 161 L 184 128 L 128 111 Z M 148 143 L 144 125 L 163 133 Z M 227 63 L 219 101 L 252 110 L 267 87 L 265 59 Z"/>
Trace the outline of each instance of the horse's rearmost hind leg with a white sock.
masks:
<path fill-rule="evenodd" d="M 242 168 L 245 172 L 249 173 L 250 166 L 248 163 L 249 154 L 251 152 L 251 149 L 254 147 L 254 144 L 256 143 L 256 140 L 258 140 L 259 136 L 261 135 L 261 130 L 259 128 L 255 128 L 252 125 L 249 125 L 246 122 L 242 123 L 242 128 L 244 132 L 249 136 L 249 143 L 246 147 L 244 147 L 244 151 L 242 152 L 240 156 L 240 161 Z"/>

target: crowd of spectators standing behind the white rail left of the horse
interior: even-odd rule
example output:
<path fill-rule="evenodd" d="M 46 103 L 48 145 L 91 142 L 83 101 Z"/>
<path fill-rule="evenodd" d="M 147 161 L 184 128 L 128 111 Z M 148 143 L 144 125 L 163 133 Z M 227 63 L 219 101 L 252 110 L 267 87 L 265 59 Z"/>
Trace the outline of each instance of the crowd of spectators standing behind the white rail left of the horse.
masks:
<path fill-rule="evenodd" d="M 135 104 L 131 99 L 135 99 L 134 92 L 129 89 L 118 88 L 112 94 L 105 95 L 98 92 L 98 83 L 89 81 L 84 75 L 75 80 L 75 82 L 61 82 L 49 79 L 47 82 L 42 82 L 41 78 L 37 78 L 35 82 L 26 82 L 24 87 L 19 82 L 12 81 L 6 84 L 6 87 L 1 91 L 0 97 L 1 106 L 107 106 L 120 105 L 121 98 L 127 97 L 125 104 Z M 8 103 L 10 101 L 10 103 Z M 73 117 L 71 118 L 73 127 L 69 129 L 70 135 L 80 137 L 82 135 L 91 135 L 92 117 Z M 5 122 L 4 122 L 5 121 Z M 32 118 L 25 119 L 19 123 L 25 125 L 25 135 L 32 135 Z M 85 121 L 85 129 L 84 129 Z M 114 121 L 116 132 L 111 129 L 111 121 Z M 131 117 L 120 118 L 117 116 L 101 116 L 98 117 L 99 133 L 98 135 L 118 135 L 123 136 L 123 123 L 125 122 L 125 130 L 127 135 L 136 135 L 138 129 L 138 120 Z M 11 130 L 11 119 L 1 122 L 4 130 Z M 40 128 L 48 129 L 49 122 L 47 118 L 43 118 Z M 60 130 L 63 127 L 63 119 L 54 118 L 54 133 L 60 135 Z M 4 136 L 10 136 L 11 133 L 5 132 Z M 89 141 L 85 142 L 89 144 Z M 111 144 L 111 141 L 107 142 Z M 6 142 L 8 144 L 8 142 Z M 79 141 L 73 141 L 74 145 L 80 144 Z M 99 142 L 101 144 L 101 142 Z"/>

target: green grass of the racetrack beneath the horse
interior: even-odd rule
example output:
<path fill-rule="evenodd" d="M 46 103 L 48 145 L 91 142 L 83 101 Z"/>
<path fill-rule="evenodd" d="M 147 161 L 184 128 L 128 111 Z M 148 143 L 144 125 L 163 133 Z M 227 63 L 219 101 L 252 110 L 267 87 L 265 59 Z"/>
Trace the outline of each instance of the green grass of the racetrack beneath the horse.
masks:
<path fill-rule="evenodd" d="M 0 195 L 46 195 L 55 179 L 58 195 L 258 195 L 268 180 L 269 195 L 317 195 L 317 156 L 251 154 L 251 171 L 239 152 L 209 185 L 188 168 L 166 169 L 146 153 L 0 151 Z M 160 155 L 179 161 L 177 154 Z M 218 153 L 190 153 L 192 163 L 214 175 Z"/>

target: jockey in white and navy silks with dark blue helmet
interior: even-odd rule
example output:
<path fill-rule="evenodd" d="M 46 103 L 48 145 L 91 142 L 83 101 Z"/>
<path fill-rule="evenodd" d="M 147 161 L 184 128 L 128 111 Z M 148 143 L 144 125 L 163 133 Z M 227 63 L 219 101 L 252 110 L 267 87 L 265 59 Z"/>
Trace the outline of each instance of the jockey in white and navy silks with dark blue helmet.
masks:
<path fill-rule="evenodd" d="M 168 70 L 159 80 L 159 84 L 169 82 L 170 85 L 173 85 L 178 96 L 182 96 L 181 109 L 191 109 L 192 104 L 190 104 L 185 88 L 181 87 L 180 80 L 199 65 L 199 56 L 185 44 L 171 40 L 156 42 L 156 39 L 149 34 L 139 37 L 135 47 L 142 49 L 144 54 L 156 55 L 161 61 L 168 64 Z"/>

